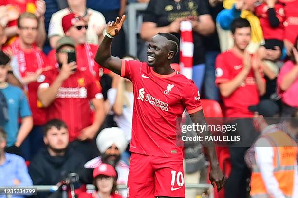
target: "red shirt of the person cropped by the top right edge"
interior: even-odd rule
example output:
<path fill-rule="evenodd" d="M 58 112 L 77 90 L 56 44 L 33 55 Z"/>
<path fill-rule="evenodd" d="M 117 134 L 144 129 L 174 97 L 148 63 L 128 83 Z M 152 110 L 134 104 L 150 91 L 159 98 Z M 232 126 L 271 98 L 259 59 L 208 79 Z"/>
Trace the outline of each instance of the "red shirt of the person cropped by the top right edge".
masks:
<path fill-rule="evenodd" d="M 263 30 L 265 39 L 277 39 L 283 40 L 284 37 L 284 26 L 283 22 L 285 21 L 285 13 L 283 4 L 276 3 L 274 6 L 276 17 L 279 19 L 279 26 L 276 28 L 271 27 L 269 22 L 269 14 L 268 14 L 268 5 L 266 3 L 262 3 L 260 6 L 256 7 L 255 14 L 260 19 L 260 24 Z"/>

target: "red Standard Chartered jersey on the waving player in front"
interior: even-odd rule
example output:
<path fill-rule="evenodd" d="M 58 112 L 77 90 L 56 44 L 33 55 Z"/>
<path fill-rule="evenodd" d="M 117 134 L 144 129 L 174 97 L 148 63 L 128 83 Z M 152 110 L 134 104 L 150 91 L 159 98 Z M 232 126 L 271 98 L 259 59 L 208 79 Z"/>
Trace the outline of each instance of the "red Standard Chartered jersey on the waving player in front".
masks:
<path fill-rule="evenodd" d="M 183 158 L 177 146 L 177 119 L 202 109 L 192 80 L 175 71 L 160 75 L 145 62 L 122 60 L 121 76 L 133 83 L 134 105 L 130 151 Z M 178 140 L 179 141 L 179 140 Z"/>

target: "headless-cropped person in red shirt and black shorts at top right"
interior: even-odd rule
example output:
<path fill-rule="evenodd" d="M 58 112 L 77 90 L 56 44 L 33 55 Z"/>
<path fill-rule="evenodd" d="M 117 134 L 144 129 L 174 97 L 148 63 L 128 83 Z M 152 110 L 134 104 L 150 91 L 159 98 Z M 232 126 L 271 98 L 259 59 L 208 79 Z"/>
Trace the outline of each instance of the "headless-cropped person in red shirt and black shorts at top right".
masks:
<path fill-rule="evenodd" d="M 265 48 L 275 50 L 275 46 L 278 46 L 279 49 L 283 49 L 284 4 L 277 0 L 264 0 L 261 5 L 256 7 L 255 14 L 260 19 Z"/>

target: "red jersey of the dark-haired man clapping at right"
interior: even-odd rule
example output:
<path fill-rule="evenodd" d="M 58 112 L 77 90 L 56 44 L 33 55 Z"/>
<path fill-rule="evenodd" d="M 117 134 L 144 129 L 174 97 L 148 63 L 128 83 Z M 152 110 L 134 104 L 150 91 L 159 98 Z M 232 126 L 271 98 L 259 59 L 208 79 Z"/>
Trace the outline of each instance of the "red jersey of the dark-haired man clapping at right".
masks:
<path fill-rule="evenodd" d="M 242 58 L 236 56 L 231 50 L 218 55 L 215 83 L 220 84 L 235 78 L 243 68 L 242 63 Z M 248 106 L 259 103 L 258 87 L 253 70 L 230 96 L 222 97 L 222 99 L 226 117 L 253 117 L 254 114 L 248 110 Z"/>

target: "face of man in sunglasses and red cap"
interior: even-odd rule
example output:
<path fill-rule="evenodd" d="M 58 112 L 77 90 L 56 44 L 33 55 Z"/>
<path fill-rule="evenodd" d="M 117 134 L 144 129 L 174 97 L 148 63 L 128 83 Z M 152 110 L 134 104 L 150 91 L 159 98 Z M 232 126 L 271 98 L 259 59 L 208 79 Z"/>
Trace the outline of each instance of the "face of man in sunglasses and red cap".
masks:
<path fill-rule="evenodd" d="M 86 28 L 88 28 L 88 24 L 79 20 L 65 34 L 74 39 L 76 44 L 83 44 L 86 43 Z"/>

